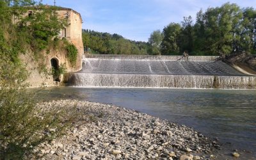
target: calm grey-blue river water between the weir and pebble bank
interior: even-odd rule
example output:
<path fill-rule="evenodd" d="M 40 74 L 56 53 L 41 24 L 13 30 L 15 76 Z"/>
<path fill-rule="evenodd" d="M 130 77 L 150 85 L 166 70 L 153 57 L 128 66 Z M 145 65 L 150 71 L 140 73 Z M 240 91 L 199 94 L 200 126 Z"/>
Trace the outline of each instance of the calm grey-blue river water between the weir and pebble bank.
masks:
<path fill-rule="evenodd" d="M 217 138 L 229 154 L 237 149 L 256 157 L 256 90 L 61 87 L 38 95 L 41 100 L 79 99 L 135 109 Z"/>

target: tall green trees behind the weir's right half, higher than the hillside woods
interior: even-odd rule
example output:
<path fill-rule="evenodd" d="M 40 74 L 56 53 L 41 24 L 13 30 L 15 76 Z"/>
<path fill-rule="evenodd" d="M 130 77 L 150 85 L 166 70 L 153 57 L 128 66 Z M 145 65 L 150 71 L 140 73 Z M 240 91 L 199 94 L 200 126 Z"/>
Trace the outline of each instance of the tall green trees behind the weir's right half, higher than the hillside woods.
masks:
<path fill-rule="evenodd" d="M 163 32 L 154 31 L 149 42 L 161 54 L 256 54 L 256 10 L 230 3 L 200 10 L 195 24 L 191 16 L 184 17 L 180 24 L 170 23 Z"/>

